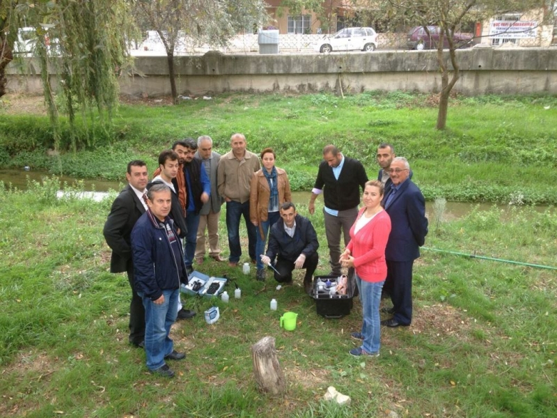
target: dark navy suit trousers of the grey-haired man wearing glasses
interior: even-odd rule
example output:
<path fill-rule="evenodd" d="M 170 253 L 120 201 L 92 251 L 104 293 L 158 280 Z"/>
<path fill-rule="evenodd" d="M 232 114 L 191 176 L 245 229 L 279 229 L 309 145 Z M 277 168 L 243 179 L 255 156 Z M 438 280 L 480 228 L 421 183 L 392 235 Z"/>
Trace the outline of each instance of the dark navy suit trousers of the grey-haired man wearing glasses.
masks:
<path fill-rule="evenodd" d="M 393 318 L 402 325 L 412 322 L 412 267 L 414 261 L 387 260 L 387 279 L 391 287 L 391 301 L 395 314 Z"/>

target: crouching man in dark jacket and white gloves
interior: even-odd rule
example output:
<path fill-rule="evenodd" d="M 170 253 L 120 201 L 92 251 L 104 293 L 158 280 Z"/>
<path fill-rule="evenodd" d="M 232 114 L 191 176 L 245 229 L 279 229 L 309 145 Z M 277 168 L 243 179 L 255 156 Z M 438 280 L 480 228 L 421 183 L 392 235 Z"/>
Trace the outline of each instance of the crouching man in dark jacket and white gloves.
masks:
<path fill-rule="evenodd" d="M 310 220 L 297 214 L 294 203 L 285 202 L 281 205 L 281 219 L 271 227 L 267 253 L 261 261 L 269 265 L 278 256 L 274 279 L 281 283 L 291 283 L 292 270 L 305 268 L 304 290 L 309 294 L 319 261 L 318 248 L 317 233 Z"/>

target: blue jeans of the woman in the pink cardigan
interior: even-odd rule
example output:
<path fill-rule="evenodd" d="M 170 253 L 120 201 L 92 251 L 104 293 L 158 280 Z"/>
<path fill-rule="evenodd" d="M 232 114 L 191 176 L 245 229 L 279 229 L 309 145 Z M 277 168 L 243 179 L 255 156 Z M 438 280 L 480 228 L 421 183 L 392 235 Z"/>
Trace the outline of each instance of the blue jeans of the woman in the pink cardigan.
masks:
<path fill-rule="evenodd" d="M 379 302 L 385 281 L 370 282 L 360 279 L 354 272 L 356 284 L 360 291 L 363 343 L 361 349 L 366 353 L 379 353 L 381 347 L 381 320 L 379 319 Z"/>

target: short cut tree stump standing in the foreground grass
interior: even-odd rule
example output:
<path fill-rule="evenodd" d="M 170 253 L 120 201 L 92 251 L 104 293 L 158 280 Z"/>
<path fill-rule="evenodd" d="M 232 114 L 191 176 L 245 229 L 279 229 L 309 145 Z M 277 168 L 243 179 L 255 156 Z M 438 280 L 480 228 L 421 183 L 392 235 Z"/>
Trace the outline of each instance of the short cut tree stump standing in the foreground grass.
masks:
<path fill-rule="evenodd" d="M 272 336 L 265 336 L 251 346 L 251 359 L 253 359 L 253 375 L 260 392 L 272 395 L 285 392 L 286 380 L 281 365 L 278 364 Z"/>

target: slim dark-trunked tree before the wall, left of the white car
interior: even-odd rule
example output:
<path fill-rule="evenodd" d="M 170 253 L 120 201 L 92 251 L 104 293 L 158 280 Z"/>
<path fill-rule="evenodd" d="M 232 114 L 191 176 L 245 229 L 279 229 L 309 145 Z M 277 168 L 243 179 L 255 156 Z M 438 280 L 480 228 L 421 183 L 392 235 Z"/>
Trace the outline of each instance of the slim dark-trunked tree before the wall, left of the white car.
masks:
<path fill-rule="evenodd" d="M 135 6 L 164 44 L 174 102 L 174 55 L 181 42 L 224 46 L 236 33 L 267 20 L 264 0 L 136 0 Z"/>

